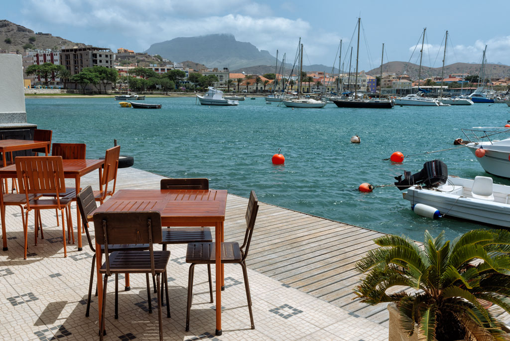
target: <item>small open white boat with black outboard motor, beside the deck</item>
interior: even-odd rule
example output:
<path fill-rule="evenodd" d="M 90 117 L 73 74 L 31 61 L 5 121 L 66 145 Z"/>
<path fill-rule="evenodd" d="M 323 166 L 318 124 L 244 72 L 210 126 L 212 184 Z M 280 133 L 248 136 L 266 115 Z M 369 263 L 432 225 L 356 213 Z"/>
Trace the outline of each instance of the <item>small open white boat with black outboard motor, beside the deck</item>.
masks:
<path fill-rule="evenodd" d="M 395 183 L 400 190 L 407 189 L 402 196 L 411 202 L 417 214 L 428 217 L 451 215 L 510 227 L 510 186 L 494 184 L 490 177 L 477 176 L 471 180 L 448 176 L 446 164 L 441 160 L 428 161 L 423 166 L 422 171 L 412 176 L 404 172 L 408 176 Z M 429 172 L 431 169 L 440 173 Z"/>

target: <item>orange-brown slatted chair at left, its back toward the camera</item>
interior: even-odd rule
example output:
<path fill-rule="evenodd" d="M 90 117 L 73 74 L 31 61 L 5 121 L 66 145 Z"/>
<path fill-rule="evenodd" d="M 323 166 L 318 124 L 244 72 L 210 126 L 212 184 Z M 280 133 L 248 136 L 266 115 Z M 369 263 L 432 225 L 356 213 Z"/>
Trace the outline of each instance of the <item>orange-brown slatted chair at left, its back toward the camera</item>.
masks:
<path fill-rule="evenodd" d="M 71 200 L 61 198 L 65 190 L 65 179 L 62 165 L 62 157 L 60 156 L 18 156 L 16 158 L 16 173 L 18 178 L 19 190 L 25 194 L 25 201 L 27 202 L 25 209 L 24 221 L 24 255 L 23 258 L 27 259 L 27 234 L 28 234 L 28 221 L 29 212 L 35 210 L 36 214 L 36 245 L 37 245 L 37 231 L 41 229 L 42 225 L 38 226 L 39 210 L 42 209 L 57 209 L 62 214 L 62 239 L 64 242 L 64 257 L 67 257 L 66 249 L 66 236 L 64 224 L 64 211 L 67 221 L 67 233 L 69 235 L 69 242 L 74 243 L 74 233 L 72 232 L 71 220 Z M 30 199 L 30 194 L 40 194 L 45 196 L 45 193 L 57 193 L 55 199 Z"/>

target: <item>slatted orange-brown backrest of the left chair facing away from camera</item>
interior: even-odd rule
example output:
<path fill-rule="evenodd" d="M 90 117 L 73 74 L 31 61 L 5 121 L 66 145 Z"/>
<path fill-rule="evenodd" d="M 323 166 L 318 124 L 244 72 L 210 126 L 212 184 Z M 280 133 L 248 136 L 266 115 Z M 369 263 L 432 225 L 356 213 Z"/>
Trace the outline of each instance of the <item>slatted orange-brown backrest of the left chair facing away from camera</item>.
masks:
<path fill-rule="evenodd" d="M 65 193 L 61 156 L 18 156 L 15 161 L 19 189 L 27 198 L 29 193 Z"/>

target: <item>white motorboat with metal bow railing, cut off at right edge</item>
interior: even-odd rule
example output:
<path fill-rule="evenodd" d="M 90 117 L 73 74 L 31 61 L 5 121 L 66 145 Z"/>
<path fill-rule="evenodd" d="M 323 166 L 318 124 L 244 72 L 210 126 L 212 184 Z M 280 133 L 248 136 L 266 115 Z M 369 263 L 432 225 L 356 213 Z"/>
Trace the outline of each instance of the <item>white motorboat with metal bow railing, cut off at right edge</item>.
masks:
<path fill-rule="evenodd" d="M 461 129 L 468 138 L 466 147 L 473 153 L 484 171 L 498 177 L 510 178 L 510 129 L 505 127 L 475 127 Z M 494 138 L 502 138 L 496 140 Z M 477 153 L 478 149 L 480 151 Z M 478 154 L 478 155 L 477 155 Z"/>

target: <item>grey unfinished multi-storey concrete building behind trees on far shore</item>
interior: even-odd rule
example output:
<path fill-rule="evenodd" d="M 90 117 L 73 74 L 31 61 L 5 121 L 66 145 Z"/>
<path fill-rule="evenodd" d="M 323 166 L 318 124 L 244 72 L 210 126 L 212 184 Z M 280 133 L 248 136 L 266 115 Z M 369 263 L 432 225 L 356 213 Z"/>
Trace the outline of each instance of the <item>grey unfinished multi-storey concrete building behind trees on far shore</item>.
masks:
<path fill-rule="evenodd" d="M 95 65 L 113 68 L 114 53 L 103 47 L 63 48 L 60 53 L 61 64 L 71 71 L 71 75 L 79 74 L 84 67 Z"/>

